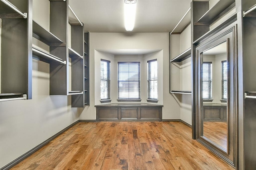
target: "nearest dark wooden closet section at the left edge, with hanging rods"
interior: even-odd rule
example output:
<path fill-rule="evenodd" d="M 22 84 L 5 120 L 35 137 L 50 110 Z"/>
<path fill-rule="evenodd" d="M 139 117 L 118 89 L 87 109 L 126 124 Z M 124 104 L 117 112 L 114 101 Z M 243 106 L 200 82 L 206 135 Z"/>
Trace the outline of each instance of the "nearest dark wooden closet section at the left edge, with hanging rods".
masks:
<path fill-rule="evenodd" d="M 7 3 L 0 1 L 1 96 L 9 98 L 8 94 L 18 93 L 32 99 L 32 0 Z"/>

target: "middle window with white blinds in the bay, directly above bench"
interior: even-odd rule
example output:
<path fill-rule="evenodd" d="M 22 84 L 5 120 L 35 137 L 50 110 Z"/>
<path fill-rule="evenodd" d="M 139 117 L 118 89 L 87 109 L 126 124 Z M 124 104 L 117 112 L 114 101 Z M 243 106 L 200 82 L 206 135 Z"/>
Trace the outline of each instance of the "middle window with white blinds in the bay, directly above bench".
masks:
<path fill-rule="evenodd" d="M 118 62 L 118 99 L 140 100 L 140 62 Z"/>

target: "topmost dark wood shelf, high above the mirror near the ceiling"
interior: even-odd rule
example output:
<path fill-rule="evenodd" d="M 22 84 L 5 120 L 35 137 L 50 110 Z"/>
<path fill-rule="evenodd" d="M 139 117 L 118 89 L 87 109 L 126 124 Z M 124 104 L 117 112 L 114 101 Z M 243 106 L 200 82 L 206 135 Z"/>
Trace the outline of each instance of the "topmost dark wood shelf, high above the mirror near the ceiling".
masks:
<path fill-rule="evenodd" d="M 232 5 L 235 0 L 220 0 L 215 4 L 210 10 L 208 10 L 199 20 L 198 22 L 209 23 L 214 18 L 219 16 L 226 8 Z"/>

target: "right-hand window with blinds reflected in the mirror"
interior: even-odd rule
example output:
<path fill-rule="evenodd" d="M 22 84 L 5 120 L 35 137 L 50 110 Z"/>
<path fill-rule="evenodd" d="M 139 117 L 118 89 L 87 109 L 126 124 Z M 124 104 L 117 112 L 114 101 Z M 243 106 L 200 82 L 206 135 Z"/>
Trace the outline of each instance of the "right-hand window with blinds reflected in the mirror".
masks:
<path fill-rule="evenodd" d="M 221 99 L 227 99 L 227 91 L 228 91 L 228 65 L 227 61 L 221 61 Z"/>

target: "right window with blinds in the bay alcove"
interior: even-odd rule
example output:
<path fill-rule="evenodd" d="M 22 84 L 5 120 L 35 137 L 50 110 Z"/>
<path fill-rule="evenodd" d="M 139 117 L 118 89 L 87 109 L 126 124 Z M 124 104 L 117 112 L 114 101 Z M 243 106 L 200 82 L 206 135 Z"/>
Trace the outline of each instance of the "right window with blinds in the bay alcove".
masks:
<path fill-rule="evenodd" d="M 148 99 L 157 100 L 157 60 L 148 61 Z"/>

